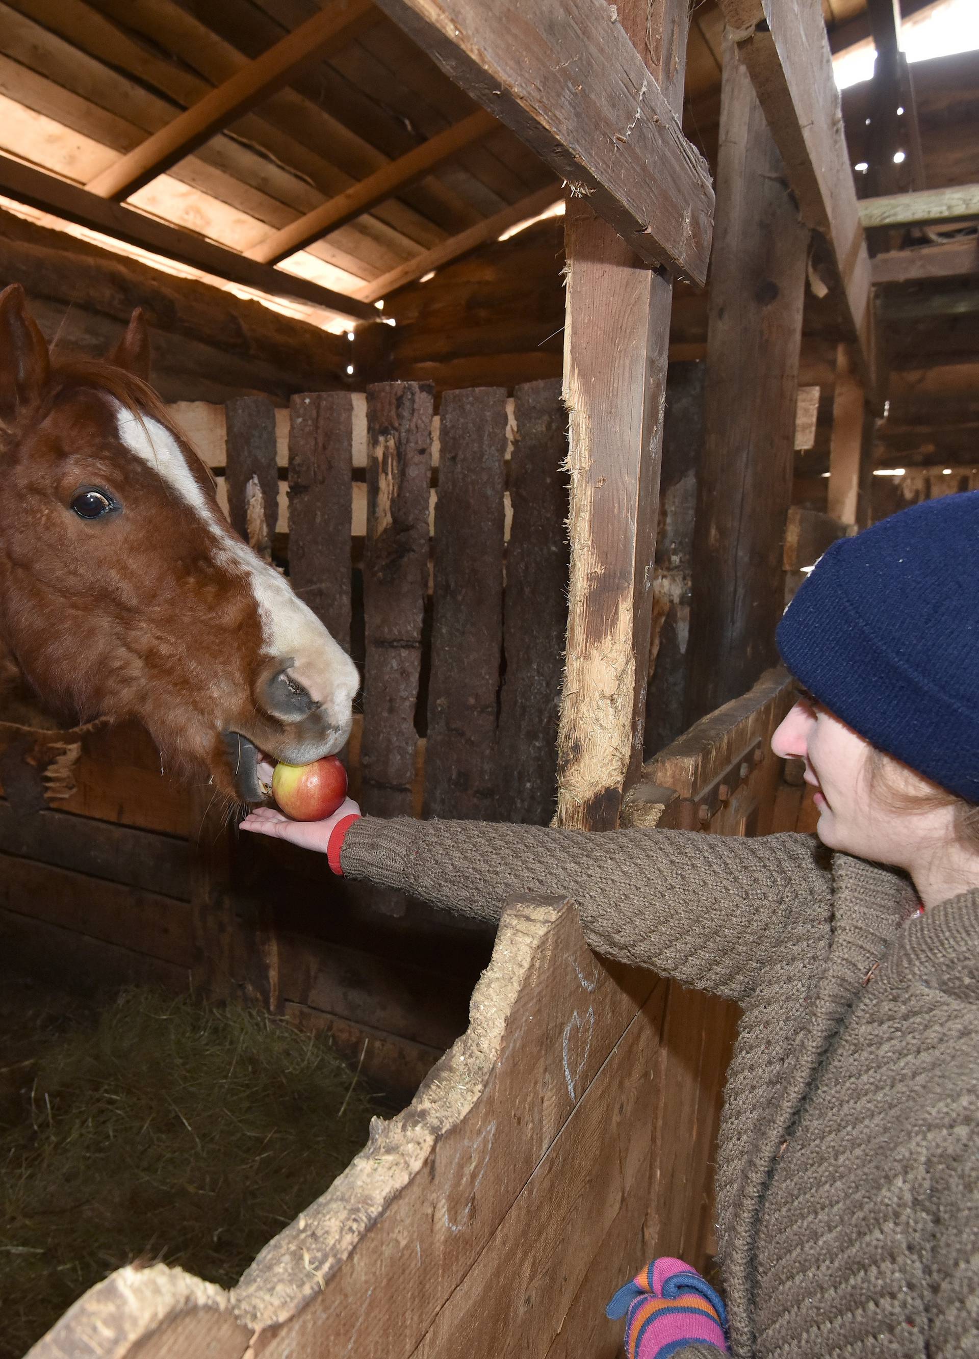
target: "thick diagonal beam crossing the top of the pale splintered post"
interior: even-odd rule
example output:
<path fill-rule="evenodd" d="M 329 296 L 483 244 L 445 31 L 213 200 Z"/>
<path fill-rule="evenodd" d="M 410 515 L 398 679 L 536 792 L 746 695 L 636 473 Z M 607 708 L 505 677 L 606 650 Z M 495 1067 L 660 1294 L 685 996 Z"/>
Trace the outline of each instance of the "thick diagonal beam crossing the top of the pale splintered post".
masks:
<path fill-rule="evenodd" d="M 381 0 L 381 8 L 586 196 L 640 258 L 704 283 L 710 174 L 615 7 Z"/>

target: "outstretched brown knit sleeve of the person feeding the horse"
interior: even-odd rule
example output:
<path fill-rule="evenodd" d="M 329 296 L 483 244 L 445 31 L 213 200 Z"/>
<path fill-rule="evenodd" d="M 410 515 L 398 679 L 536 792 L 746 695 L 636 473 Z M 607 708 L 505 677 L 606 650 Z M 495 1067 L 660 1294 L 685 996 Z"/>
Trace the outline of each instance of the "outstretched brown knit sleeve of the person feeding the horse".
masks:
<path fill-rule="evenodd" d="M 793 913 L 831 892 L 812 836 L 555 830 L 481 821 L 355 822 L 345 877 L 498 920 L 521 893 L 567 896 L 596 953 L 732 999 L 751 993 Z"/>

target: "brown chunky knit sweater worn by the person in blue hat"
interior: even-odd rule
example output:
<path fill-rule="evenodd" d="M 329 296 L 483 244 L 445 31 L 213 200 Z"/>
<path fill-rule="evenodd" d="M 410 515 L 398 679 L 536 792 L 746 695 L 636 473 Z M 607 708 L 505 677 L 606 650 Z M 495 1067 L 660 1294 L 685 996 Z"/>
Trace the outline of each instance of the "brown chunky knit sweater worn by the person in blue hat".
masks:
<path fill-rule="evenodd" d="M 364 818 L 341 864 L 487 920 L 567 894 L 597 953 L 741 1003 L 717 1165 L 738 1359 L 979 1355 L 979 890 L 915 916 L 899 874 L 809 836 L 465 821 Z"/>

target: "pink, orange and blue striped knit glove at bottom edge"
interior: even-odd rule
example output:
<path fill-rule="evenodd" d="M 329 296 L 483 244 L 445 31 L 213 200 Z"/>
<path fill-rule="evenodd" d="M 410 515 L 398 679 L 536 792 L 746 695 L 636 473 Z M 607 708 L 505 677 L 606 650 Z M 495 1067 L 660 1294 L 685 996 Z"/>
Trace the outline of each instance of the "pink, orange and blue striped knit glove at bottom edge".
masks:
<path fill-rule="evenodd" d="M 683 1260 L 653 1260 L 615 1295 L 605 1316 L 628 1313 L 625 1354 L 630 1359 L 668 1359 L 684 1345 L 717 1345 L 727 1354 L 727 1316 L 719 1295 Z"/>

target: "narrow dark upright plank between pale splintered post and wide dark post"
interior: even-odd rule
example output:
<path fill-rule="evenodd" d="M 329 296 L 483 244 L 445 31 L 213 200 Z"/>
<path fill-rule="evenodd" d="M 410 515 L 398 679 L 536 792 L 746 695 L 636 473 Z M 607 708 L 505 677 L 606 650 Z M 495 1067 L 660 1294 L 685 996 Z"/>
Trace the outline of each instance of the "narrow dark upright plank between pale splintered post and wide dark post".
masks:
<path fill-rule="evenodd" d="M 643 730 L 646 758 L 669 745 L 685 726 L 691 571 L 696 478 L 703 442 L 704 378 L 703 363 L 670 361 L 666 374 L 659 523 Z"/>

